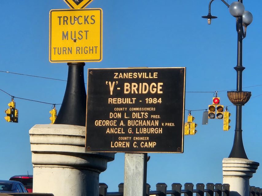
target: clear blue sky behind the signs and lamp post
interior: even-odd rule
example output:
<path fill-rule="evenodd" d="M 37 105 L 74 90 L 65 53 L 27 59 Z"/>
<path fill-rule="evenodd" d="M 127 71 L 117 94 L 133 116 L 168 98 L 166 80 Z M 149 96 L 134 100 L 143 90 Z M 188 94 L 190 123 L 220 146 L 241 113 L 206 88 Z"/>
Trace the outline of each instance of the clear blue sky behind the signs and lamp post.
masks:
<path fill-rule="evenodd" d="M 228 0 L 231 4 L 233 1 Z M 262 163 L 261 149 L 261 31 L 262 13 L 259 0 L 244 0 L 245 9 L 253 14 L 253 22 L 243 40 L 243 87 L 251 91 L 250 101 L 243 106 L 243 142 L 250 160 Z M 212 3 L 211 13 L 217 16 L 208 25 L 201 16 L 208 13 L 208 0 L 94 0 L 88 8 L 103 9 L 103 60 L 84 66 L 110 67 L 186 67 L 186 91 L 220 91 L 221 104 L 231 105 L 226 90 L 236 88 L 237 32 L 235 18 L 219 0 Z M 1 1 L 0 70 L 42 77 L 67 79 L 66 63 L 50 63 L 49 11 L 69 9 L 63 0 Z M 60 104 L 66 82 L 0 72 L 0 89 L 26 99 Z M 255 97 L 257 96 L 257 97 Z M 186 93 L 187 110 L 207 109 L 213 93 Z M 0 92 L 1 179 L 33 173 L 29 129 L 35 124 L 49 124 L 51 106 L 15 99 L 19 123 L 7 123 L 5 110 L 11 98 Z M 59 109 L 59 107 L 57 107 Z M 202 112 L 192 111 L 198 124 L 197 134 L 185 136 L 184 153 L 150 153 L 147 182 L 151 190 L 162 182 L 222 183 L 222 159 L 233 145 L 235 106 L 229 106 L 231 129 L 223 131 L 222 120 L 209 120 L 201 125 Z M 187 116 L 187 112 L 185 113 Z M 2 116 L 2 117 L 1 117 Z M 163 141 L 164 142 L 164 141 Z M 117 191 L 123 182 L 124 153 L 100 175 L 100 182 L 109 191 Z M 262 187 L 259 167 L 250 185 Z"/>

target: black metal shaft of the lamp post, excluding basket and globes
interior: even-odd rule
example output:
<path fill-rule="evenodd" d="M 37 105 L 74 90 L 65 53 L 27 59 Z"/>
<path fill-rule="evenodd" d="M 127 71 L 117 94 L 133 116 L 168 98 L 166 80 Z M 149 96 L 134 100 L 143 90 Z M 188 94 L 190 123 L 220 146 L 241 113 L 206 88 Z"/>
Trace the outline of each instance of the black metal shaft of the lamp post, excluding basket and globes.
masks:
<path fill-rule="evenodd" d="M 242 3 L 242 0 L 239 0 Z M 237 92 L 242 92 L 242 72 L 245 69 L 242 66 L 242 52 L 243 52 L 243 25 L 242 16 L 237 18 L 237 66 L 234 69 L 237 71 Z M 243 158 L 248 159 L 242 139 L 242 105 L 236 105 L 236 128 L 232 150 L 229 158 Z"/>

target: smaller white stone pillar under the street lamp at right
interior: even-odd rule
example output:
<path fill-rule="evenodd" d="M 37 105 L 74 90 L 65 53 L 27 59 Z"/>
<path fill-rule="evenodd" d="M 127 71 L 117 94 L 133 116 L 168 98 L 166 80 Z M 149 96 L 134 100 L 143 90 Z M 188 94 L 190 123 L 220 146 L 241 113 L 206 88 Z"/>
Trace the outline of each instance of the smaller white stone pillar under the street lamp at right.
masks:
<path fill-rule="evenodd" d="M 259 163 L 240 158 L 224 158 L 222 163 L 223 183 L 230 185 L 230 196 L 249 196 L 249 179 Z"/>

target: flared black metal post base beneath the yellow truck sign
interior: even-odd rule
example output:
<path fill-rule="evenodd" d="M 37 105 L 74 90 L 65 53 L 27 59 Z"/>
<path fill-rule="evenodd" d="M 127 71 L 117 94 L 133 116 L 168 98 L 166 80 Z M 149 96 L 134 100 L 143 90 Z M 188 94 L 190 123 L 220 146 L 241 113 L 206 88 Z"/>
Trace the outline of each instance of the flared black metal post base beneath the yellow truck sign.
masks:
<path fill-rule="evenodd" d="M 54 124 L 85 126 L 84 62 L 69 62 L 65 95 Z"/>

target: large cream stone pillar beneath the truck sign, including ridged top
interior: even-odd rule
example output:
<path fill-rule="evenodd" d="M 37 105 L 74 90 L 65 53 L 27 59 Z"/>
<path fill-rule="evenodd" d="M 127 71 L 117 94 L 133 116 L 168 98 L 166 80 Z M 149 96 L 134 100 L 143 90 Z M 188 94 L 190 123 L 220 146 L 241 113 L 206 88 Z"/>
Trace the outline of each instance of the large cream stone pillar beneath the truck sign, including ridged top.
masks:
<path fill-rule="evenodd" d="M 99 174 L 114 160 L 114 153 L 85 153 L 84 126 L 35 125 L 29 134 L 33 192 L 99 195 Z"/>

